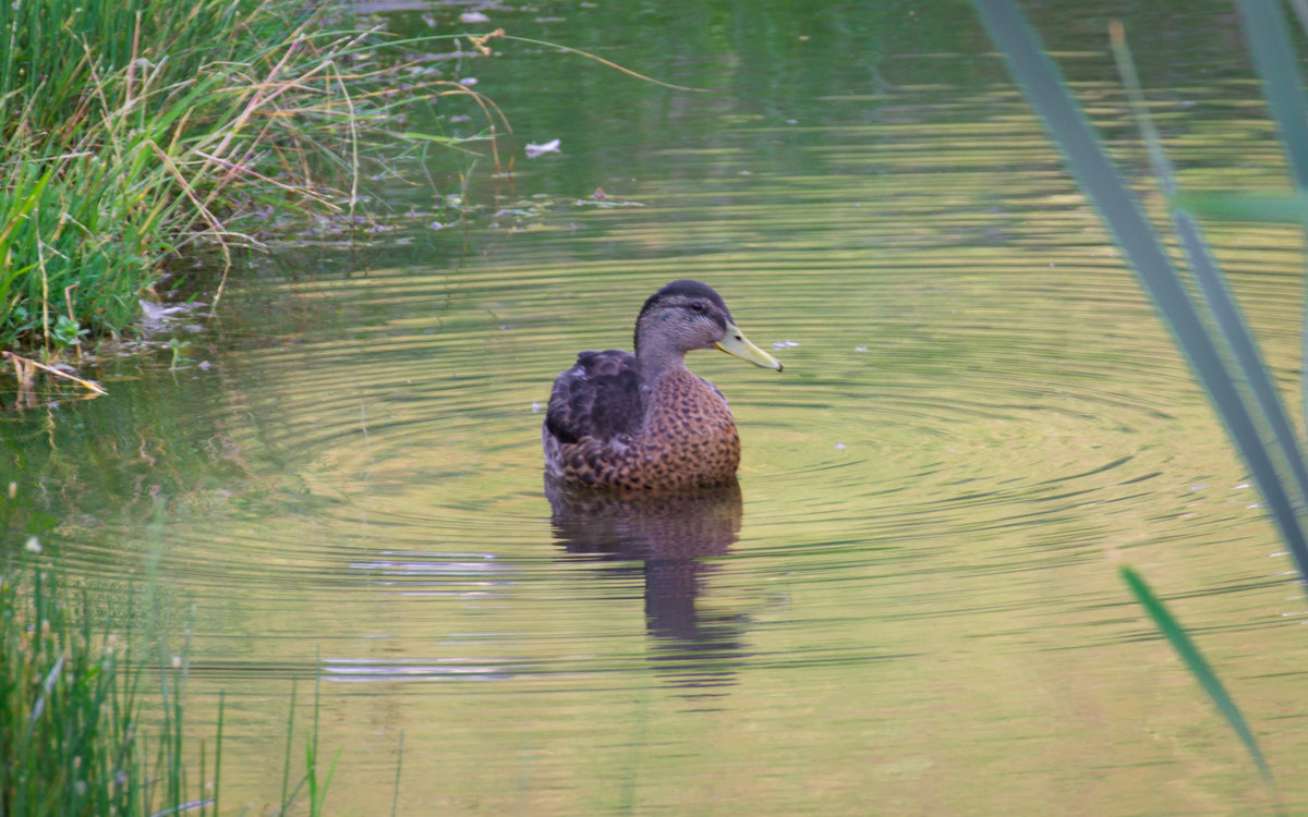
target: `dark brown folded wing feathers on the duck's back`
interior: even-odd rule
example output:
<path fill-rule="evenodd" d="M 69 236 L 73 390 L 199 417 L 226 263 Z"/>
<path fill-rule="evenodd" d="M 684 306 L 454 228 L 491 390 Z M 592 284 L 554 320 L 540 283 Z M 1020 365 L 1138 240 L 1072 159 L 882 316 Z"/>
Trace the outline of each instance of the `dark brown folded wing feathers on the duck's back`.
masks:
<path fill-rule="evenodd" d="M 555 378 L 545 429 L 570 444 L 585 437 L 612 439 L 636 431 L 645 416 L 640 370 L 629 352 L 582 352 Z"/>

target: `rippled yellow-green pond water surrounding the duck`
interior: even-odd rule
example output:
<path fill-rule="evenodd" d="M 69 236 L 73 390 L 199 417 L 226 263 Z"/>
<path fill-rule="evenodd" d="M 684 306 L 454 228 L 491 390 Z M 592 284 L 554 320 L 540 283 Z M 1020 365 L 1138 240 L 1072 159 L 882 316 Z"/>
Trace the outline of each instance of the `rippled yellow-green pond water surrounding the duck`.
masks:
<path fill-rule="evenodd" d="M 1262 810 L 1117 558 L 1308 805 L 1292 566 L 971 8 L 802 5 L 484 9 L 717 93 L 497 46 L 464 65 L 518 142 L 513 191 L 473 176 L 496 226 L 251 259 L 186 336 L 205 367 L 123 365 L 0 422 L 58 562 L 109 609 L 157 575 L 190 626 L 225 807 L 277 800 L 292 681 L 297 745 L 317 681 L 332 813 L 388 813 L 396 778 L 399 813 Z M 1282 187 L 1233 12 L 1133 8 L 1031 8 L 1120 158 L 1143 162 L 1114 14 L 1159 43 L 1138 58 L 1182 184 Z M 1298 404 L 1299 238 L 1219 227 Z M 785 362 L 688 358 L 731 401 L 739 490 L 552 505 L 553 376 L 629 348 L 679 277 Z"/>

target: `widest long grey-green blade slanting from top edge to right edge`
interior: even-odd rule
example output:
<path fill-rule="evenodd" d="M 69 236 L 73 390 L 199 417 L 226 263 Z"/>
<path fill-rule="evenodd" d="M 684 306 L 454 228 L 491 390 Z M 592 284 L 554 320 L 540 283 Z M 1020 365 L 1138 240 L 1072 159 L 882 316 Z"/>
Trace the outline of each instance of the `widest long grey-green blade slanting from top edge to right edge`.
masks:
<path fill-rule="evenodd" d="M 1163 315 L 1216 407 L 1231 439 L 1244 458 L 1254 482 L 1266 499 L 1273 522 L 1294 554 L 1300 576 L 1308 582 L 1308 541 L 1294 503 L 1262 441 L 1258 424 L 1250 416 L 1239 387 L 1228 371 L 1218 345 L 1190 301 L 1185 286 L 1144 218 L 1143 212 L 1121 180 L 1116 166 L 1095 139 L 1090 123 L 1073 101 L 1054 64 L 1045 55 L 1035 31 L 1011 0 L 973 0 L 990 37 L 1008 61 L 1027 99 L 1044 118 L 1053 141 L 1062 149 L 1073 175 L 1099 209 L 1137 277 Z"/>

